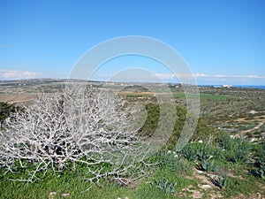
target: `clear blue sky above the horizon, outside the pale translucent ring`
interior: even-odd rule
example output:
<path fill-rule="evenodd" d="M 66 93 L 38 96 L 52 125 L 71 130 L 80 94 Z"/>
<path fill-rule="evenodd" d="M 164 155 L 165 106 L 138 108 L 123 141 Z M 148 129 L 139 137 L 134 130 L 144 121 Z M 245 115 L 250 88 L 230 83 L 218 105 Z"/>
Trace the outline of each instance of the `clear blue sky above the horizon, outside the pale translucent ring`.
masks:
<path fill-rule="evenodd" d="M 0 80 L 66 78 L 79 57 L 96 44 L 144 35 L 177 50 L 198 84 L 265 85 L 264 9 L 262 0 L 4 0 Z M 170 81 L 171 74 L 152 61 L 147 65 L 133 57 L 113 63 L 95 77 L 111 75 L 121 65 L 145 65 Z"/>

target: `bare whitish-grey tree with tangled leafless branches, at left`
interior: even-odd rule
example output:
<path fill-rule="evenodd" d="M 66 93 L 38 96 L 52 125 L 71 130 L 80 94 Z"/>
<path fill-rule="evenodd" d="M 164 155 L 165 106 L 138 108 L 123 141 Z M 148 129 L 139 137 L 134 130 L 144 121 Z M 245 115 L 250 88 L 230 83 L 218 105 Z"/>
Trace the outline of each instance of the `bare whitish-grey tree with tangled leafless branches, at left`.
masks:
<path fill-rule="evenodd" d="M 83 164 L 87 180 L 112 177 L 126 184 L 145 174 L 140 164 L 148 154 L 130 116 L 114 93 L 91 86 L 67 86 L 64 93 L 43 94 L 5 120 L 0 165 L 10 172 L 24 168 L 28 178 L 16 180 L 33 182 L 38 172 L 62 172 Z M 104 169 L 106 164 L 109 170 Z"/>

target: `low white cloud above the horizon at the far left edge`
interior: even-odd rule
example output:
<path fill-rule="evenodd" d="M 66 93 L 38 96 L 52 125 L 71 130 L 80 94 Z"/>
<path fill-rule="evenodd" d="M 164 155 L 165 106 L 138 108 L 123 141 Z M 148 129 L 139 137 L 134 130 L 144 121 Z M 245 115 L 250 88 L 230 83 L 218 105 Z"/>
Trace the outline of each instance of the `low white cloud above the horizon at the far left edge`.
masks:
<path fill-rule="evenodd" d="M 2 79 L 25 79 L 36 76 L 36 73 L 29 71 L 0 71 L 0 78 Z"/>

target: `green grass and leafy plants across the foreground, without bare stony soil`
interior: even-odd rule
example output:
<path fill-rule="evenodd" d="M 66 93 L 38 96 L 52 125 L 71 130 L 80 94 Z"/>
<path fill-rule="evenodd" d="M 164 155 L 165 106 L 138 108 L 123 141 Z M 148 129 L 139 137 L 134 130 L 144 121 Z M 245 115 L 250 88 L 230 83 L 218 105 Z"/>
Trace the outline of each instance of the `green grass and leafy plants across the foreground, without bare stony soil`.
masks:
<path fill-rule="evenodd" d="M 255 159 L 260 161 L 264 159 L 265 142 L 254 144 L 244 139 L 231 139 L 230 136 L 223 134 L 213 142 L 189 143 L 181 153 L 177 153 L 174 149 L 173 147 L 171 152 L 162 150 L 153 157 L 149 157 L 148 163 L 157 163 L 152 167 L 150 175 L 133 182 L 128 187 L 119 186 L 111 179 L 101 180 L 97 185 L 92 184 L 84 180 L 87 170 L 83 165 L 76 165 L 76 169 L 69 166 L 64 172 L 54 173 L 49 170 L 42 180 L 34 183 L 10 181 L 11 178 L 26 176 L 26 173 L 18 169 L 15 173 L 8 172 L 4 175 L 4 169 L 0 168 L 0 198 L 47 199 L 51 192 L 57 193 L 53 196 L 54 199 L 64 198 L 61 196 L 64 193 L 70 194 L 67 198 L 179 198 L 178 195 L 184 192 L 186 197 L 192 195 L 191 188 L 199 190 L 207 198 L 208 193 L 198 187 L 198 184 L 205 182 L 194 178 L 196 175 L 194 170 L 201 170 L 202 160 L 209 157 L 215 160 L 215 166 L 218 169 L 203 170 L 203 172 L 217 176 L 224 173 L 228 176 L 227 186 L 223 186 L 222 189 L 216 187 L 210 191 L 221 192 L 223 198 L 240 194 L 252 195 L 257 192 L 261 193 L 261 191 L 265 194 L 264 190 L 261 190 L 261 186 L 265 185 L 265 180 L 254 176 L 257 165 L 253 162 Z M 28 168 L 31 166 L 28 165 Z M 156 182 L 163 180 L 175 185 L 175 193 L 167 193 L 166 190 L 157 187 Z M 212 186 L 214 187 L 213 184 Z M 87 188 L 90 188 L 89 191 L 86 191 Z M 189 188 L 189 191 L 183 190 L 184 188 Z"/>

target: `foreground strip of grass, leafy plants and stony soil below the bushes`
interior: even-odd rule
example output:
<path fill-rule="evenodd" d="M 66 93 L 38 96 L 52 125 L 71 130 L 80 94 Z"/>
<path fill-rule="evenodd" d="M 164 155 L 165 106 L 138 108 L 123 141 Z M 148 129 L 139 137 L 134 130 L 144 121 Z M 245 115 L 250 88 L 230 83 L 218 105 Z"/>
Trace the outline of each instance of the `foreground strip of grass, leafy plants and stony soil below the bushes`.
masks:
<path fill-rule="evenodd" d="M 226 137 L 223 139 L 227 141 Z M 238 142 L 239 149 L 245 149 L 240 145 L 241 140 L 231 139 L 231 142 Z M 30 184 L 10 181 L 15 176 L 20 176 L 21 171 L 5 173 L 2 168 L 0 197 L 47 198 L 56 193 L 53 198 L 62 198 L 63 194 L 69 194 L 69 198 L 186 198 L 193 197 L 194 190 L 201 192 L 201 197 L 204 198 L 214 195 L 230 198 L 258 192 L 264 195 L 262 184 L 265 182 L 262 179 L 261 167 L 257 165 L 261 163 L 262 157 L 254 155 L 259 153 L 261 148 L 257 148 L 253 143 L 250 148 L 244 164 L 229 158 L 233 149 L 223 150 L 220 142 L 191 142 L 180 153 L 174 149 L 163 149 L 148 158 L 149 164 L 156 163 L 152 172 L 125 187 L 111 177 L 100 180 L 98 184 L 92 184 L 84 179 L 87 174 L 84 165 L 69 167 L 64 172 L 49 170 L 45 177 L 42 176 L 42 180 Z M 252 161 L 253 158 L 256 160 Z M 212 162 L 204 165 L 205 161 Z M 208 185 L 208 191 L 201 188 L 203 185 Z"/>

